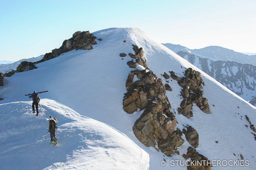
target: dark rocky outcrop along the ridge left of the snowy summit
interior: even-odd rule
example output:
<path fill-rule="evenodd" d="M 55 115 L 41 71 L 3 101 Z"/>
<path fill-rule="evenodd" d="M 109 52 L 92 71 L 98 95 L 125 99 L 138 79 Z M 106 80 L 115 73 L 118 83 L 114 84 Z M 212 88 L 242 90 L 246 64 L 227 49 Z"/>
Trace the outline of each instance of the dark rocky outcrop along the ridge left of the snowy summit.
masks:
<path fill-rule="evenodd" d="M 44 62 L 47 61 L 49 59 L 55 58 L 60 56 L 61 54 L 68 52 L 68 51 L 72 51 L 74 49 L 76 50 L 90 50 L 93 49 L 92 45 L 97 44 L 97 42 L 95 41 L 97 37 L 93 36 L 93 34 L 91 34 L 89 31 L 76 31 L 73 34 L 73 37 L 70 38 L 69 40 L 65 40 L 60 48 L 56 48 L 54 50 L 52 50 L 52 52 L 47 53 L 44 55 L 44 58 L 41 59 L 40 61 L 36 62 Z M 102 39 L 98 39 L 99 41 L 102 41 Z"/>

